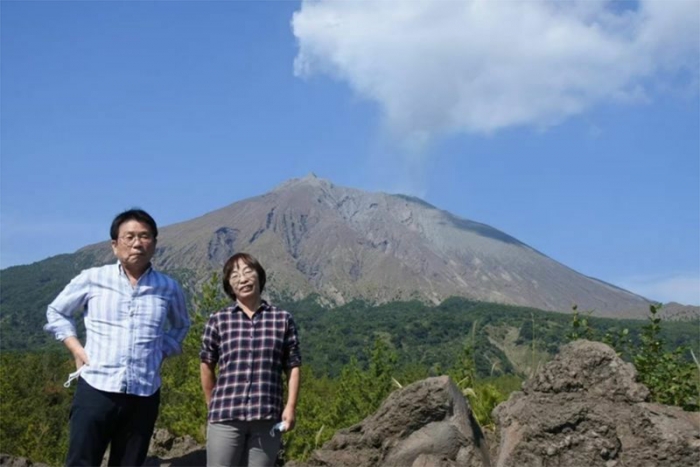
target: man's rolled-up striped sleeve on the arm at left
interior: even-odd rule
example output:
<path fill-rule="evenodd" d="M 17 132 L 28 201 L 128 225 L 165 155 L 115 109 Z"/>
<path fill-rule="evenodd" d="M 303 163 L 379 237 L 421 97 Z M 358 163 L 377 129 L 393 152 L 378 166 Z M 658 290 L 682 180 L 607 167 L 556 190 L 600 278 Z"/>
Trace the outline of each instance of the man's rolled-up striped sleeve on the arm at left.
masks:
<path fill-rule="evenodd" d="M 44 325 L 44 331 L 52 333 L 59 341 L 76 336 L 73 313 L 75 310 L 85 307 L 89 290 L 90 279 L 86 270 L 73 278 L 49 304 L 46 309 L 47 323 Z"/>

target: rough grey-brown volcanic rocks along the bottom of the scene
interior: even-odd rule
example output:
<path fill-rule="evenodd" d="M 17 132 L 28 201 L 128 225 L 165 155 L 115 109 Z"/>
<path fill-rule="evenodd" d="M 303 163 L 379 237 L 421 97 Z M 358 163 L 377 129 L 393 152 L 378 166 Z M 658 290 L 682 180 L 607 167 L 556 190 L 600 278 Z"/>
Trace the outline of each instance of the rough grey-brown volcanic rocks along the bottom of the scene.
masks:
<path fill-rule="evenodd" d="M 494 411 L 483 433 L 447 377 L 392 393 L 379 410 L 338 431 L 306 462 L 289 467 L 696 467 L 700 414 L 649 402 L 634 367 L 610 347 L 565 346 Z M 159 430 L 147 465 L 203 466 L 192 438 Z M 40 467 L 0 455 L 0 466 Z"/>

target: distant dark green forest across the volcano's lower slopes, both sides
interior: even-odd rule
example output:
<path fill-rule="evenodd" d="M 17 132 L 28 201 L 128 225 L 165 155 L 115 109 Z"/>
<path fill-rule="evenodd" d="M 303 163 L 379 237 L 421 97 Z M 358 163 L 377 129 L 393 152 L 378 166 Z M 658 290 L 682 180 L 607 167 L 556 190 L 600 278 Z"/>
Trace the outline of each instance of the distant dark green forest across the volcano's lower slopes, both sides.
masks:
<path fill-rule="evenodd" d="M 108 262 L 110 261 L 112 260 Z M 55 348 L 56 343 L 52 337 L 42 330 L 46 320 L 46 306 L 82 269 L 104 262 L 104 258 L 98 259 L 93 253 L 79 251 L 0 271 L 0 350 L 35 351 Z M 193 292 L 196 278 L 192 271 L 178 269 L 168 270 L 167 273 L 185 285 L 185 293 L 190 298 L 197 294 Z M 416 360 L 418 356 L 421 364 L 440 363 L 445 358 L 454 356 L 454 343 L 475 322 L 485 331 L 480 333 L 482 347 L 490 347 L 490 352 L 479 362 L 480 368 L 483 370 L 498 361 L 504 365 L 501 370 L 508 372 L 508 359 L 499 354 L 503 351 L 490 344 L 488 337 L 499 340 L 503 337 L 501 334 L 507 334 L 506 340 L 510 340 L 517 335 L 517 345 L 524 345 L 532 340 L 534 316 L 535 321 L 540 321 L 538 326 L 543 332 L 542 335 L 535 334 L 535 340 L 543 344 L 540 347 L 542 350 L 551 353 L 561 343 L 562 336 L 558 332 L 567 325 L 569 319 L 564 313 L 547 313 L 526 307 L 479 303 L 460 298 L 448 299 L 437 307 L 419 302 L 391 302 L 379 306 L 352 302 L 328 308 L 320 306 L 318 297 L 313 296 L 301 302 L 293 302 L 285 297 L 273 297 L 273 301 L 293 311 L 299 325 L 305 327 L 304 332 L 308 334 L 308 342 L 305 344 L 310 346 L 310 351 L 306 352 L 307 362 L 333 375 L 338 374 L 340 366 L 349 361 L 350 355 L 365 358 L 362 350 L 377 333 L 396 334 L 392 345 L 397 346 L 402 363 Z M 595 312 L 593 316 L 595 317 Z M 696 321 L 697 318 L 691 320 Z M 356 330 L 357 323 L 366 329 Z M 504 323 L 509 323 L 509 329 L 494 329 L 494 326 L 503 326 Z M 614 327 L 634 330 L 643 325 L 643 320 L 594 318 L 591 323 L 600 330 Z M 664 328 L 665 337 L 673 343 L 696 342 L 697 336 L 692 336 L 690 329 L 693 328 L 688 327 L 687 323 L 669 323 Z M 316 336 L 328 336 L 329 333 L 333 339 L 316 339 Z M 511 345 L 510 342 L 505 344 Z M 342 351 L 339 346 L 343 347 Z M 410 356 L 410 352 L 415 356 Z M 524 363 L 523 358 L 516 360 L 522 360 L 520 364 Z"/>

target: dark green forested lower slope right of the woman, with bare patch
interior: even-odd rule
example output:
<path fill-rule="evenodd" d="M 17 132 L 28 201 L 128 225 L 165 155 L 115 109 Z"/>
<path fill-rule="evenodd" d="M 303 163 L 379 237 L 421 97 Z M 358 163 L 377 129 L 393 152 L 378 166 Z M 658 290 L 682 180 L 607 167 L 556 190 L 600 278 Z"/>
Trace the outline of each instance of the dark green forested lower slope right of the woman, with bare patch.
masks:
<path fill-rule="evenodd" d="M 438 374 L 457 358 L 474 329 L 479 375 L 523 375 L 567 341 L 572 320 L 569 314 L 459 297 L 437 306 L 417 301 L 381 305 L 355 301 L 326 309 L 314 297 L 282 305 L 292 311 L 302 333 L 305 363 L 330 376 L 338 375 L 353 356 L 366 363 L 365 349 L 377 338 L 396 352 L 399 366 L 419 365 Z M 646 324 L 644 320 L 596 318 L 595 312 L 583 314 L 592 332 L 601 338 L 627 329 L 635 344 Z M 666 322 L 662 337 L 669 346 L 689 345 L 698 355 L 697 324 Z"/>

